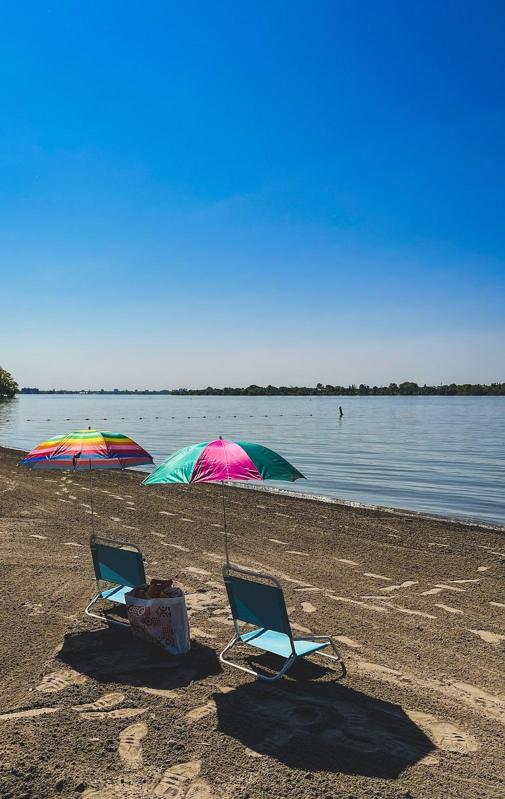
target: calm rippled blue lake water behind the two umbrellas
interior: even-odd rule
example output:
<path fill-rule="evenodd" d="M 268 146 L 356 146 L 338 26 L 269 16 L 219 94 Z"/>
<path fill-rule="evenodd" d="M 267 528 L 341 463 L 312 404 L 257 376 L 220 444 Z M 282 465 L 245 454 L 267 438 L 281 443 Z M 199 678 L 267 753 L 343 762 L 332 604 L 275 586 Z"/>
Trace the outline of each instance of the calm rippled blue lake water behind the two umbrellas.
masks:
<path fill-rule="evenodd" d="M 30 450 L 88 425 L 129 435 L 156 464 L 220 434 L 263 443 L 307 477 L 265 485 L 505 524 L 505 397 L 42 395 L 0 403 L 6 447 Z"/>

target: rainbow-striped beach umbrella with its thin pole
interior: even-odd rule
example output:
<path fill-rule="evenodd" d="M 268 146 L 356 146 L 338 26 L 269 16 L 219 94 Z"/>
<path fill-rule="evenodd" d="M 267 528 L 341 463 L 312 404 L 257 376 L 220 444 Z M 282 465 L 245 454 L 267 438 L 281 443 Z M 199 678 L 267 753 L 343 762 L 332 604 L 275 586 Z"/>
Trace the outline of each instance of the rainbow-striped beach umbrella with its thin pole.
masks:
<path fill-rule="evenodd" d="M 92 469 L 126 469 L 145 466 L 153 458 L 135 441 L 121 433 L 100 430 L 76 430 L 66 435 L 55 435 L 35 447 L 18 466 L 31 469 L 89 470 L 91 495 L 91 526 L 94 535 Z"/>

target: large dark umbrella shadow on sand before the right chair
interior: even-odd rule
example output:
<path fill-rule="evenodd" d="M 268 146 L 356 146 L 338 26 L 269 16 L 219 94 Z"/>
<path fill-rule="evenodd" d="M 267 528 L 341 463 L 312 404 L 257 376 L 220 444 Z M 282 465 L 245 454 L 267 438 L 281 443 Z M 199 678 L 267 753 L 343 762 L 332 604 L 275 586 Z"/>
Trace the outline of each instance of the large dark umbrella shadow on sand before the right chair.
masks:
<path fill-rule="evenodd" d="M 300 663 L 294 679 L 213 694 L 218 729 L 290 768 L 386 779 L 435 750 L 400 706 L 338 680 L 314 682 L 325 672 Z"/>

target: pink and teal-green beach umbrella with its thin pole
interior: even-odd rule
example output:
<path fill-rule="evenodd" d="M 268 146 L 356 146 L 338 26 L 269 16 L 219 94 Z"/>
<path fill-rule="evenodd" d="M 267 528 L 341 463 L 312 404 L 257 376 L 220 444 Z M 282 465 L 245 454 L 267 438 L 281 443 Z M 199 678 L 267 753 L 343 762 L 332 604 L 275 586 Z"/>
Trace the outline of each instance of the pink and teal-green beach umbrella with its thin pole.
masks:
<path fill-rule="evenodd" d="M 305 479 L 291 463 L 268 447 L 246 441 L 205 441 L 174 452 L 149 477 L 143 486 L 152 483 L 221 483 L 225 520 L 226 562 L 229 564 L 226 528 L 225 482 L 229 480 L 295 480 Z"/>

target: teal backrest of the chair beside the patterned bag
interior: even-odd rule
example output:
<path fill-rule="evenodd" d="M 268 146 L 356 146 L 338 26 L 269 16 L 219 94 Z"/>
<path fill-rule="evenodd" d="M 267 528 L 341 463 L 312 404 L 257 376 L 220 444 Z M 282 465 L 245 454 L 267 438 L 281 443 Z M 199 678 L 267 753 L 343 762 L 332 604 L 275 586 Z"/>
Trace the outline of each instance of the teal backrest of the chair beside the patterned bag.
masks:
<path fill-rule="evenodd" d="M 91 557 L 97 580 L 118 582 L 121 586 L 140 586 L 145 583 L 142 553 L 133 544 L 110 541 L 106 544 L 91 541 Z M 133 550 L 121 549 L 133 547 Z"/>

